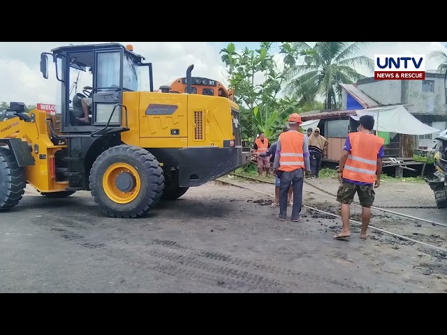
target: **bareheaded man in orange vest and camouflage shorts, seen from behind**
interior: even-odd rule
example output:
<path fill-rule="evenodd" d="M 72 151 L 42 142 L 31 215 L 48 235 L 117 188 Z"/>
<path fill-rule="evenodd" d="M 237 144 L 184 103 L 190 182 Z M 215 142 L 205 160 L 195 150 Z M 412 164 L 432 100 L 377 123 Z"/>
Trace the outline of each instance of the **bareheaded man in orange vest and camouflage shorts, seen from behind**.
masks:
<path fill-rule="evenodd" d="M 335 239 L 349 239 L 349 205 L 358 194 L 362 206 L 362 229 L 360 238 L 367 239 L 367 228 L 374 202 L 374 187 L 380 186 L 384 140 L 372 133 L 374 117 L 363 115 L 356 133 L 350 133 L 344 144 L 338 168 L 340 187 L 337 201 L 341 203 L 343 229 Z M 375 184 L 375 186 L 373 186 Z"/>

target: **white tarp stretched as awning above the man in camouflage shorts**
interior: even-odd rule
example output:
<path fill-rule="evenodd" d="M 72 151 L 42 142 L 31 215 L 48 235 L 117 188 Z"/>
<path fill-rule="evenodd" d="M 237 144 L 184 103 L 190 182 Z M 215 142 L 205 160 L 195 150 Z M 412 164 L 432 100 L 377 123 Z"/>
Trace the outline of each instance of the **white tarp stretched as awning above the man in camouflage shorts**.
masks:
<path fill-rule="evenodd" d="M 375 131 L 387 131 L 388 133 L 406 135 L 425 135 L 439 133 L 440 131 L 439 129 L 423 124 L 416 117 L 413 117 L 403 105 L 356 110 L 356 114 L 351 115 L 356 121 L 362 115 L 371 115 L 374 117 Z"/>

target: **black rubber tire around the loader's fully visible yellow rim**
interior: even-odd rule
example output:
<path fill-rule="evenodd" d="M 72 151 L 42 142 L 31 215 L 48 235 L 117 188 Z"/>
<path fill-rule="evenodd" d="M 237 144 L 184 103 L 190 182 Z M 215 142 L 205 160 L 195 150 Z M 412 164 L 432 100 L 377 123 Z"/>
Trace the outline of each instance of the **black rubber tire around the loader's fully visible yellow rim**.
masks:
<path fill-rule="evenodd" d="M 140 161 L 140 163 L 142 163 L 142 165 L 147 168 L 146 172 L 151 177 L 156 177 L 156 181 L 150 181 L 149 183 L 150 188 L 152 189 L 152 191 L 154 191 L 152 199 L 148 198 L 147 200 L 149 201 L 145 202 L 145 204 L 136 207 L 134 211 L 126 211 L 126 213 L 116 211 L 105 206 L 105 204 L 101 202 L 98 196 L 98 192 L 96 191 L 95 178 L 101 162 L 105 161 L 105 159 L 109 158 L 110 156 L 117 156 L 119 154 L 125 154 L 126 156 L 137 159 L 138 161 Z M 112 218 L 137 218 L 139 216 L 144 216 L 145 214 L 147 214 L 147 212 L 153 209 L 159 202 L 161 195 L 163 194 L 164 181 L 165 178 L 163 175 L 163 169 L 161 168 L 159 161 L 156 160 L 154 155 L 150 154 L 149 151 L 140 147 L 121 144 L 104 151 L 101 155 L 98 156 L 98 158 L 96 158 L 96 161 L 93 163 L 93 166 L 90 170 L 89 188 L 91 190 L 91 195 L 94 198 L 94 202 L 96 202 L 96 204 L 98 204 L 102 211 L 108 216 Z"/>

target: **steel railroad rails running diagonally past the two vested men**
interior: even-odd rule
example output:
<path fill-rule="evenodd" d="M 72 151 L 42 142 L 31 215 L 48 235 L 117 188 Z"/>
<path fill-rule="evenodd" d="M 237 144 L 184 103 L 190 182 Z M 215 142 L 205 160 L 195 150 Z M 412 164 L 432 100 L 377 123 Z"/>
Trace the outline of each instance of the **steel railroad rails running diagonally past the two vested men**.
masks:
<path fill-rule="evenodd" d="M 235 175 L 235 174 L 233 174 L 233 175 Z M 239 176 L 237 176 L 237 177 L 239 177 Z M 242 178 L 246 178 L 246 177 L 245 177 L 245 176 L 242 176 Z M 247 179 L 251 179 L 251 178 L 247 178 Z M 253 179 L 254 179 L 254 178 L 253 178 Z M 261 194 L 263 194 L 263 195 L 268 195 L 268 196 L 274 198 L 274 195 L 273 195 L 273 194 L 265 193 L 265 192 L 263 192 L 263 191 L 258 191 L 258 190 L 254 189 L 254 188 L 250 188 L 250 187 L 242 186 L 242 185 L 238 185 L 238 184 L 233 184 L 233 183 L 231 183 L 230 181 L 222 180 L 222 179 L 220 179 L 220 178 L 218 178 L 218 179 L 216 179 L 216 180 L 219 181 L 219 182 L 221 182 L 222 184 L 227 184 L 227 185 L 235 186 L 235 187 L 238 187 L 238 188 L 244 188 L 244 189 L 247 189 L 247 190 L 249 190 L 249 191 L 253 191 L 253 192 L 256 192 L 256 193 L 261 193 Z M 261 181 L 261 179 L 259 179 L 259 181 Z M 274 183 L 271 183 L 271 182 L 265 182 L 265 184 L 274 184 Z M 308 192 L 308 193 L 314 193 L 314 194 L 319 194 L 319 193 L 310 192 L 310 191 L 306 191 L 306 192 Z M 307 209 L 310 209 L 310 210 L 312 210 L 312 211 L 316 211 L 316 212 L 318 212 L 318 213 L 321 213 L 321 214 L 325 214 L 325 215 L 333 216 L 333 217 L 335 217 L 335 218 L 341 218 L 341 216 L 339 216 L 339 215 L 337 215 L 337 214 L 330 213 L 329 211 L 323 211 L 323 210 L 321 210 L 321 209 L 318 209 L 318 208 L 316 208 L 316 207 L 309 206 L 309 205 L 307 205 L 307 204 L 303 204 L 302 206 L 305 207 L 305 208 L 307 208 Z M 381 210 L 381 209 L 379 209 L 379 210 Z M 403 216 L 404 214 L 401 214 L 401 215 Z M 419 218 L 416 218 L 416 219 L 419 220 Z M 361 225 L 362 225 L 362 223 L 359 222 L 359 221 L 355 221 L 355 220 L 352 220 L 352 219 L 350 219 L 349 221 L 351 221 L 351 223 L 354 223 L 354 224 L 356 224 L 356 225 L 358 225 L 358 226 L 361 226 Z M 424 220 L 424 221 L 425 221 L 425 220 Z M 439 225 L 443 225 L 443 224 L 439 224 Z M 425 247 L 427 247 L 427 248 L 432 248 L 432 249 L 434 249 L 434 250 L 441 251 L 441 252 L 444 253 L 444 255 L 447 255 L 447 249 L 446 249 L 446 248 L 442 248 L 442 247 L 440 247 L 440 246 L 434 246 L 433 244 L 425 243 L 424 241 L 418 241 L 417 239 L 412 239 L 411 237 L 406 237 L 406 236 L 401 235 L 401 234 L 396 234 L 395 232 L 390 232 L 390 231 L 388 231 L 388 230 L 384 230 L 384 229 L 375 227 L 374 225 L 369 225 L 368 228 L 371 229 L 371 230 L 376 230 L 377 232 L 382 232 L 383 234 L 389 234 L 389 235 L 391 235 L 391 236 L 393 236 L 393 237 L 397 237 L 398 239 L 401 239 L 401 240 L 404 240 L 404 241 L 411 241 L 411 242 L 413 242 L 413 243 L 415 243 L 415 244 L 420 244 L 420 245 L 425 246 Z"/>

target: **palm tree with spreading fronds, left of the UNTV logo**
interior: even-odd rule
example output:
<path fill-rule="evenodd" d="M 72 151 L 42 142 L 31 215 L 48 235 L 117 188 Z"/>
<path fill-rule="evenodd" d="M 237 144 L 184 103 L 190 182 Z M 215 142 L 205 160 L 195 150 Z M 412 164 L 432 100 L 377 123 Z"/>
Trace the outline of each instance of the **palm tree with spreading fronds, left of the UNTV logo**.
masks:
<path fill-rule="evenodd" d="M 285 70 L 288 82 L 286 94 L 300 97 L 300 104 L 310 103 L 323 96 L 325 108 L 337 106 L 342 94 L 340 84 L 353 84 L 365 78 L 354 66 L 374 70 L 374 61 L 366 56 L 356 56 L 369 42 L 317 42 L 310 47 L 305 42 L 291 43 L 295 59 L 304 56 L 302 65 L 292 64 Z M 286 61 L 286 59 L 284 59 Z"/>

